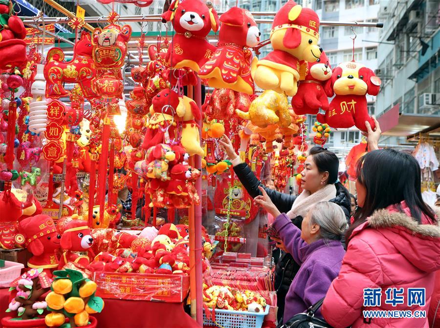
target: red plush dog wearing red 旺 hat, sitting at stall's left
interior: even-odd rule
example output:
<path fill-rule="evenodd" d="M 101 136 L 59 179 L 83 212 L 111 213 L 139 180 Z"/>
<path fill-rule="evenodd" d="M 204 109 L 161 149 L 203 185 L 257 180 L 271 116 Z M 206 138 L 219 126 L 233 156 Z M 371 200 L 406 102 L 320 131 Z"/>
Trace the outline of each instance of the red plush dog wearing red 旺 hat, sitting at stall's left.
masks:
<path fill-rule="evenodd" d="M 26 245 L 32 257 L 27 261 L 30 268 L 43 269 L 49 277 L 58 268 L 56 251 L 61 248 L 61 235 L 50 216 L 39 214 L 23 219 L 15 239 Z"/>

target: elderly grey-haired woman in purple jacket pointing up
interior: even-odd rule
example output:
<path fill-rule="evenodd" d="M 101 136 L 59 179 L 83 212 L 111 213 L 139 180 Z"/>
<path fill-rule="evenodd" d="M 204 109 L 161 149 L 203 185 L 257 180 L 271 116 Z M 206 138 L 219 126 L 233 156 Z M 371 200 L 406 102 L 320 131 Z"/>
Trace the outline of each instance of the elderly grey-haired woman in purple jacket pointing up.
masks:
<path fill-rule="evenodd" d="M 260 187 L 260 191 L 263 195 L 254 199 L 255 204 L 276 218 L 272 227 L 301 266 L 287 292 L 283 318 L 286 323 L 321 300 L 338 276 L 345 255 L 341 239 L 347 221 L 340 206 L 319 202 L 310 208 L 300 230 L 273 205 L 264 188 Z M 323 318 L 319 309 L 315 316 Z"/>

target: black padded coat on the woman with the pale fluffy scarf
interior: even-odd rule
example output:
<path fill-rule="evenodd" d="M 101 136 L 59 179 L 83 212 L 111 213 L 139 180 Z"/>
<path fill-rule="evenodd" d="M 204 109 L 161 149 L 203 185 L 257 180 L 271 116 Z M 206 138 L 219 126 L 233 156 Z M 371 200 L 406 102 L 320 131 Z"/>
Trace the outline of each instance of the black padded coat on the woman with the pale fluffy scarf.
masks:
<path fill-rule="evenodd" d="M 234 171 L 240 182 L 246 188 L 247 192 L 252 198 L 261 195 L 259 186 L 263 184 L 257 179 L 254 172 L 250 169 L 247 164 L 239 164 L 234 166 Z M 277 190 L 272 190 L 264 187 L 272 203 L 278 208 L 282 213 L 287 213 L 295 202 L 296 195 L 288 195 Z M 331 199 L 330 202 L 341 206 L 344 211 L 347 223 L 350 224 L 350 195 L 347 189 L 344 188 L 342 184 L 336 185 L 336 197 Z M 301 223 L 303 222 L 303 217 L 297 216 L 292 219 L 292 223 L 301 229 Z M 280 259 L 278 260 L 277 266 L 275 267 L 275 290 L 277 291 L 278 300 L 278 321 L 283 318 L 284 314 L 284 304 L 289 290 L 290 284 L 293 278 L 295 278 L 300 266 L 293 260 L 289 253 L 282 252 Z"/>

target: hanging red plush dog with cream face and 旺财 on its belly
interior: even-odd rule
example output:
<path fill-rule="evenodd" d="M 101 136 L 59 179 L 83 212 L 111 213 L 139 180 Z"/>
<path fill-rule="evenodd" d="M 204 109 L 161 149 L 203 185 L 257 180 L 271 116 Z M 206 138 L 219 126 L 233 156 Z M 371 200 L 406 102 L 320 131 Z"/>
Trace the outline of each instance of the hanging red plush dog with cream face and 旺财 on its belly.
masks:
<path fill-rule="evenodd" d="M 381 81 L 374 72 L 358 62 L 343 62 L 333 69 L 333 74 L 326 87 L 331 96 L 329 110 L 318 114 L 320 123 L 327 123 L 334 128 L 349 128 L 353 125 L 361 131 L 367 131 L 365 122 L 375 128 L 373 119 L 368 115 L 366 94 L 376 96 Z"/>

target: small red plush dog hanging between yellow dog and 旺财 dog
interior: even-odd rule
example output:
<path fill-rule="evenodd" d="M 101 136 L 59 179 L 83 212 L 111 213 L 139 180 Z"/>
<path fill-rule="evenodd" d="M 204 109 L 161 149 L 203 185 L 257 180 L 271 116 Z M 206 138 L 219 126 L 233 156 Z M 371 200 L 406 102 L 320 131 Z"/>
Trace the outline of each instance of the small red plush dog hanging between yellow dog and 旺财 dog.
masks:
<path fill-rule="evenodd" d="M 302 74 L 301 74 L 302 73 Z M 305 75 L 302 77 L 301 75 Z M 329 99 L 324 82 L 331 78 L 331 67 L 325 52 L 316 62 L 307 62 L 300 72 L 298 92 L 292 97 L 292 108 L 297 115 L 318 114 L 319 108 L 329 109 Z M 329 92 L 331 93 L 331 92 Z"/>

